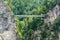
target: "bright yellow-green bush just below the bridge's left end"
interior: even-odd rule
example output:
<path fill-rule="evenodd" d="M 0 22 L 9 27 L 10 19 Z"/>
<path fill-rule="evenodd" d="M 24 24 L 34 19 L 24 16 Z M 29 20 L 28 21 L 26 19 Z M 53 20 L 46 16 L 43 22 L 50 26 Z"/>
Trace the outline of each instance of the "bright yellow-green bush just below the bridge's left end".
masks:
<path fill-rule="evenodd" d="M 16 26 L 17 26 L 16 29 L 18 31 L 18 34 L 22 37 L 22 33 L 24 32 L 24 28 L 25 28 L 25 22 L 17 21 Z"/>

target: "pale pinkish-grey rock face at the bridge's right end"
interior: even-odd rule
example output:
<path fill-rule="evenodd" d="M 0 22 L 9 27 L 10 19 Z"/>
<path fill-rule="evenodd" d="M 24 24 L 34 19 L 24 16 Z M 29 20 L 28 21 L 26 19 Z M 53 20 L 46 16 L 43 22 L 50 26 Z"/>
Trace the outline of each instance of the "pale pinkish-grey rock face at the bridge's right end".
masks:
<path fill-rule="evenodd" d="M 52 10 L 49 10 L 47 13 L 47 18 L 45 19 L 46 23 L 53 23 L 53 21 L 60 16 L 60 6 L 56 5 Z"/>

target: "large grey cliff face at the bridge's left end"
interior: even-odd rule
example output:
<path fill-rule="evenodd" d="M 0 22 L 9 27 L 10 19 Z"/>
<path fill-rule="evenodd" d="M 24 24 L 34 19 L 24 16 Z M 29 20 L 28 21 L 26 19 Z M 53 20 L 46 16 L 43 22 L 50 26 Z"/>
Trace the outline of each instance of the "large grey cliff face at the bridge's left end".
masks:
<path fill-rule="evenodd" d="M 0 2 L 0 38 L 16 40 L 14 16 L 3 2 Z"/>

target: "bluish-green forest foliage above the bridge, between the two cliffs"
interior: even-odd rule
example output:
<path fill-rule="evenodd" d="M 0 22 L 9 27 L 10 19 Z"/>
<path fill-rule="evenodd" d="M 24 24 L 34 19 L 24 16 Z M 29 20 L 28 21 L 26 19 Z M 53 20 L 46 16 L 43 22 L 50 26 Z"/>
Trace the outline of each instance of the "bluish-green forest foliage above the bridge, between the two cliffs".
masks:
<path fill-rule="evenodd" d="M 46 14 L 56 4 L 55 0 L 6 0 L 14 14 Z"/>

